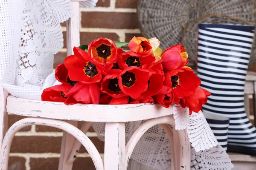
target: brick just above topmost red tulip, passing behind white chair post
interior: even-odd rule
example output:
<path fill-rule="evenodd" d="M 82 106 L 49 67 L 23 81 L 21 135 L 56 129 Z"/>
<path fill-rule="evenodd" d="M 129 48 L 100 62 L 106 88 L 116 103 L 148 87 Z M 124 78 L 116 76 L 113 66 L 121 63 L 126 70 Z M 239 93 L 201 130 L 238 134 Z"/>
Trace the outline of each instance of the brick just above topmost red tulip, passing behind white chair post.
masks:
<path fill-rule="evenodd" d="M 88 45 L 93 40 L 98 38 L 108 38 L 113 41 L 119 41 L 119 36 L 116 33 L 105 33 L 105 32 L 80 32 L 80 44 Z M 67 37 L 66 32 L 63 32 L 64 48 L 67 48 Z"/>

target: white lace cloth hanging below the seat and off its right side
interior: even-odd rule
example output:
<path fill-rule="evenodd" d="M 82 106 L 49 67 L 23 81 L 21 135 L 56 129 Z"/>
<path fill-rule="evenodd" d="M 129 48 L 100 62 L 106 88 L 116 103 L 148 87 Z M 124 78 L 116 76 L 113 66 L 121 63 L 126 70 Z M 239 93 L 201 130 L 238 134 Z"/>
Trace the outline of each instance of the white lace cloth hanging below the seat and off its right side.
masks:
<path fill-rule="evenodd" d="M 192 170 L 230 170 L 233 167 L 225 150 L 218 144 L 203 113 L 189 115 L 188 108 L 173 105 L 175 130 L 187 129 L 192 145 Z M 144 121 L 125 123 L 126 142 Z M 104 141 L 105 123 L 93 123 L 93 129 Z M 151 127 L 137 143 L 131 159 L 157 170 L 170 170 L 169 139 L 159 125 Z"/>

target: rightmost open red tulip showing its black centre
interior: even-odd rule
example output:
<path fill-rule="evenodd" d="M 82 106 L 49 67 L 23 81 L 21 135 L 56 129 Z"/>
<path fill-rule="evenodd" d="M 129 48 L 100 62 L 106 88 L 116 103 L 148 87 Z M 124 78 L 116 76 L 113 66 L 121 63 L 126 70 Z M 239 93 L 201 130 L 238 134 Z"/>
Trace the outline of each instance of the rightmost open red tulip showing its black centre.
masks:
<path fill-rule="evenodd" d="M 192 69 L 182 68 L 165 74 L 164 85 L 172 88 L 178 98 L 195 94 L 195 89 L 201 84 L 200 79 Z"/>

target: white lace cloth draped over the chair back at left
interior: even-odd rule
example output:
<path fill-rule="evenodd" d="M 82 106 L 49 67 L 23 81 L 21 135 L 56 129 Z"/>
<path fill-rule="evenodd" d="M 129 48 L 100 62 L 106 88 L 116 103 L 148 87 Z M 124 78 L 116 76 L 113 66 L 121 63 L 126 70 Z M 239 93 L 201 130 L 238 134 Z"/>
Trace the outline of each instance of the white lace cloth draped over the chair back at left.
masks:
<path fill-rule="evenodd" d="M 94 7 L 97 1 L 80 6 Z M 53 54 L 63 47 L 60 23 L 71 14 L 70 0 L 0 0 L 0 85 L 9 93 L 41 99 Z"/>

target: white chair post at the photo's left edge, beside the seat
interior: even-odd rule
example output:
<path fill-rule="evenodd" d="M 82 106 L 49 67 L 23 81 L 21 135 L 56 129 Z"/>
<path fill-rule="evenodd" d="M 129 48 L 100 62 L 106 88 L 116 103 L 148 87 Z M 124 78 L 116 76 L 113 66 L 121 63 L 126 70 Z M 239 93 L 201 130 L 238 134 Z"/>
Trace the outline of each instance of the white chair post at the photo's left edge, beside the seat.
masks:
<path fill-rule="evenodd" d="M 8 92 L 0 86 L 0 150 L 3 137 L 8 129 L 8 113 L 6 112 L 6 98 Z"/>

